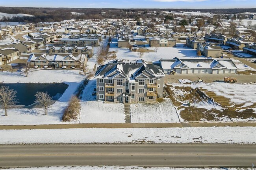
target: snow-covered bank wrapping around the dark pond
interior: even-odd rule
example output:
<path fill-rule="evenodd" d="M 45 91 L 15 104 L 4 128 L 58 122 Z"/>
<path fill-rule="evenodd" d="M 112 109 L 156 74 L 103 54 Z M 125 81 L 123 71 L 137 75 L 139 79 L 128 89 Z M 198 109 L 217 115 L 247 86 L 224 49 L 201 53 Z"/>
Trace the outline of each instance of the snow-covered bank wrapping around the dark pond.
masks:
<path fill-rule="evenodd" d="M 4 83 L 66 83 L 69 87 L 49 110 L 48 116 L 38 109 L 8 109 L 8 116 L 2 116 L 0 109 L 0 125 L 36 125 L 61 123 L 63 109 L 67 106 L 70 96 L 85 77 L 78 70 L 32 69 L 28 77 L 21 72 L 0 72 L 0 82 Z"/>

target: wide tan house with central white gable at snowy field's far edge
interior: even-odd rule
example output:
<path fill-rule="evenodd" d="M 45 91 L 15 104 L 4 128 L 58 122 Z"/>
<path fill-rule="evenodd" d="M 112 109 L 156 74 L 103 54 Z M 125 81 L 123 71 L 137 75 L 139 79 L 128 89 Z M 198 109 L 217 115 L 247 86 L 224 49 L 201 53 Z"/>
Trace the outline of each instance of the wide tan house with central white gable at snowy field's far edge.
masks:
<path fill-rule="evenodd" d="M 173 38 L 152 37 L 149 38 L 150 47 L 176 47 L 176 40 Z"/>

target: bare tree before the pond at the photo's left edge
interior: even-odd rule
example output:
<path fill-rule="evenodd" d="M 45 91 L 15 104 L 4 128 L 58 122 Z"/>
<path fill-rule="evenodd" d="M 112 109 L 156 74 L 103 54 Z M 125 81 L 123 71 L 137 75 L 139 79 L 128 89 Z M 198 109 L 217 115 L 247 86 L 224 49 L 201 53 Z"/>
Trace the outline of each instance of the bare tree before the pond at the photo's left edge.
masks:
<path fill-rule="evenodd" d="M 0 87 L 0 105 L 4 106 L 4 110 L 6 112 L 5 116 L 7 116 L 8 106 L 15 105 L 17 103 L 16 94 L 17 91 L 9 89 L 7 86 Z"/>

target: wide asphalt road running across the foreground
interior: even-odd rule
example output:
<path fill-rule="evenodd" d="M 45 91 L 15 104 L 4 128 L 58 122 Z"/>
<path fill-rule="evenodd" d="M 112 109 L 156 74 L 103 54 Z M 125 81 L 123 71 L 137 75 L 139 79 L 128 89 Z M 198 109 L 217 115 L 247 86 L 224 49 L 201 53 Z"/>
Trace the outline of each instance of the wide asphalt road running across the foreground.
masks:
<path fill-rule="evenodd" d="M 27 166 L 250 167 L 256 145 L 0 145 L 0 168 Z"/>

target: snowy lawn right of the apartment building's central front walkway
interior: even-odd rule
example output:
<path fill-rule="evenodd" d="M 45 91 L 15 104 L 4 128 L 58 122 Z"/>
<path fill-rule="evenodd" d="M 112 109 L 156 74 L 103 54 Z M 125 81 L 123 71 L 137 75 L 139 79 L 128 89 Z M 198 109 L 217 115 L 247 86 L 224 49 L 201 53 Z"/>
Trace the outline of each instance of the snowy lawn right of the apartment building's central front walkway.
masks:
<path fill-rule="evenodd" d="M 132 123 L 174 123 L 179 122 L 171 99 L 164 99 L 161 103 L 131 104 Z"/>

